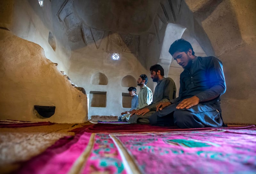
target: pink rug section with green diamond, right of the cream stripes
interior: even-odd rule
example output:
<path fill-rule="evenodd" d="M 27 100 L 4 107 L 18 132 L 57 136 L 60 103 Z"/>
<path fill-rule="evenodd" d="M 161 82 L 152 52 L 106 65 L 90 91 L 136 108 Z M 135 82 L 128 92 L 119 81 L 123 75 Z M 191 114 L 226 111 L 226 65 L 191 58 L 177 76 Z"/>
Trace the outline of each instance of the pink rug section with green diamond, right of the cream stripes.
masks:
<path fill-rule="evenodd" d="M 256 173 L 256 129 L 110 135 L 138 173 Z"/>

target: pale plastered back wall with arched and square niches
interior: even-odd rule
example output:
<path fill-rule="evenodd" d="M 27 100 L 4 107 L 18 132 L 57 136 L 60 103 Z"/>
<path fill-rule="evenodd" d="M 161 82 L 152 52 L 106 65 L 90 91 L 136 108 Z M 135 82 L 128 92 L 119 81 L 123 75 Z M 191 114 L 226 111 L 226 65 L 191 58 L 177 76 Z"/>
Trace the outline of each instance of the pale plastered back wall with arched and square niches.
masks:
<path fill-rule="evenodd" d="M 147 85 L 153 89 L 149 69 L 140 64 L 136 55 L 123 52 L 120 45 L 112 45 L 112 50 L 115 49 L 120 56 L 118 60 L 113 60 L 113 51 L 103 49 L 105 42 L 108 42 L 108 37 L 102 40 L 99 49 L 92 45 L 90 49 L 84 47 L 72 51 L 68 74 L 74 83 L 90 94 L 89 119 L 92 115 L 120 115 L 121 112 L 130 110 L 131 97 L 125 94 L 128 94 L 130 86 L 136 87 L 137 94 L 139 93 L 137 79 L 141 74 L 148 76 Z M 99 73 L 105 77 L 99 78 Z"/>

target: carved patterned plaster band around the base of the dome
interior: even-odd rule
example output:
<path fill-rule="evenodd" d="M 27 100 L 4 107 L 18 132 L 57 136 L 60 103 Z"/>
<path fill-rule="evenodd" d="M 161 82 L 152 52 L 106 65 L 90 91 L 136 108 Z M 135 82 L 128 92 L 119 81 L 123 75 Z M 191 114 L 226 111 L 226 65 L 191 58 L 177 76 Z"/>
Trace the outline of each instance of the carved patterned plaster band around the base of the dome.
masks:
<path fill-rule="evenodd" d="M 147 43 L 146 43 L 148 46 L 155 39 L 157 40 L 158 44 L 161 43 L 161 39 L 159 38 L 160 31 L 166 27 L 170 17 L 171 19 L 173 18 L 173 21 L 176 21 L 175 12 L 173 11 L 173 3 L 178 7 L 177 11 L 180 11 L 183 0 L 176 0 L 176 1 L 166 0 L 164 3 L 165 4 L 163 4 L 162 1 L 160 3 L 159 1 L 159 8 L 157 8 L 158 10 L 156 10 L 155 19 L 153 20 L 153 25 L 151 25 L 151 27 L 146 32 L 148 33 Z M 77 2 L 76 2 L 76 5 L 77 5 Z M 117 46 L 120 48 L 120 51 L 136 53 L 137 56 L 139 55 L 140 34 L 119 33 L 119 32 L 113 32 L 113 31 L 111 32 L 111 31 L 99 29 L 97 27 L 95 28 L 93 26 L 89 27 L 84 23 L 84 21 L 81 21 L 80 17 L 78 17 L 76 13 L 73 12 L 73 10 L 74 10 L 74 0 L 65 0 L 57 13 L 57 16 L 60 22 L 64 22 L 65 25 L 67 26 L 67 32 L 68 32 L 67 34 L 71 44 L 75 42 L 78 43 L 81 40 L 82 42 L 84 42 L 85 46 L 89 44 L 90 45 L 94 44 L 95 49 L 99 49 L 104 36 L 108 36 L 107 44 L 104 44 L 104 47 L 106 47 L 104 49 L 107 52 L 113 51 L 113 48 Z M 153 8 L 151 10 L 153 10 Z M 134 12 L 138 13 L 139 11 L 138 9 L 137 10 L 135 9 Z M 136 17 L 137 15 L 135 14 L 132 14 L 131 16 L 132 16 L 132 19 L 125 19 L 125 20 L 134 20 L 135 18 L 136 19 L 138 18 Z M 144 15 L 144 18 L 145 18 L 145 15 Z M 136 21 L 138 20 L 142 20 L 142 18 L 140 19 L 138 18 Z M 143 22 L 141 21 L 141 23 Z"/>

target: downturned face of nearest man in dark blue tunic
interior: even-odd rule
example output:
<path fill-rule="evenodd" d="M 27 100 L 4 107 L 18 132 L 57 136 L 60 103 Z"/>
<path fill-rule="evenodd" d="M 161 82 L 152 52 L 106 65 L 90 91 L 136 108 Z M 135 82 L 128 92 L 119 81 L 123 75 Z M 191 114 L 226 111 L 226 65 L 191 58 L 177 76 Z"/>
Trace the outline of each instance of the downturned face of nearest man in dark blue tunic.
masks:
<path fill-rule="evenodd" d="M 186 53 L 186 52 L 176 51 L 172 55 L 172 57 L 183 68 L 189 67 L 191 65 L 192 59 L 190 59 L 190 57 L 189 57 L 189 52 Z"/>

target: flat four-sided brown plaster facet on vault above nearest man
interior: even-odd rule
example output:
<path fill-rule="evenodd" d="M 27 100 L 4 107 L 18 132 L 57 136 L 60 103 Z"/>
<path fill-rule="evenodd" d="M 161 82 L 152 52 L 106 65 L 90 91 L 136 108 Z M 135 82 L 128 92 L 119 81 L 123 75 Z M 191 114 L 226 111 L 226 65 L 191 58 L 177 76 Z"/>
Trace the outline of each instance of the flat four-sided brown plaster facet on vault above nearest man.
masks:
<path fill-rule="evenodd" d="M 217 56 L 243 43 L 236 14 L 228 0 L 222 1 L 202 26 Z"/>

